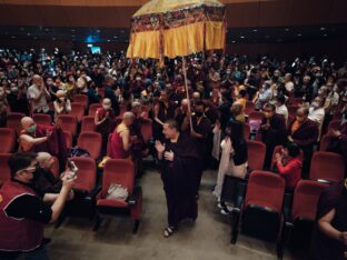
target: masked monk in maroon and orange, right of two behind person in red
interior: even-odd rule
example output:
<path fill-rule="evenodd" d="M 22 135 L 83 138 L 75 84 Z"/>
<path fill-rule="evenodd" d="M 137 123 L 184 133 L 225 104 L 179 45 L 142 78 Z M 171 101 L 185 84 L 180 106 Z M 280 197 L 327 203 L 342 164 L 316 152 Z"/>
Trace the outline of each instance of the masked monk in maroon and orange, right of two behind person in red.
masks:
<path fill-rule="evenodd" d="M 288 139 L 304 152 L 303 177 L 308 178 L 314 144 L 318 140 L 318 126 L 308 118 L 308 108 L 299 108 L 296 119 L 288 127 Z"/>

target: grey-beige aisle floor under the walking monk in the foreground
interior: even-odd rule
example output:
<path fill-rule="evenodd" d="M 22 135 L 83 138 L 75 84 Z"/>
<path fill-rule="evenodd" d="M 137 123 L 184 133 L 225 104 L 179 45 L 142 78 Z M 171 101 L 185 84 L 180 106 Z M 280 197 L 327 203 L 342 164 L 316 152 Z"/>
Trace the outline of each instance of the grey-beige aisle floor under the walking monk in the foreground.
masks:
<path fill-rule="evenodd" d="M 49 253 L 52 260 L 268 260 L 276 259 L 275 244 L 239 237 L 231 246 L 228 219 L 221 216 L 211 194 L 216 172 L 207 171 L 199 200 L 197 222 L 186 222 L 171 238 L 162 238 L 166 227 L 166 202 L 160 176 L 149 170 L 141 179 L 143 189 L 142 222 L 132 234 L 130 218 L 113 217 L 106 220 L 98 232 L 86 219 L 68 219 L 62 227 L 47 229 L 52 238 Z M 285 259 L 288 258 L 288 253 Z"/>

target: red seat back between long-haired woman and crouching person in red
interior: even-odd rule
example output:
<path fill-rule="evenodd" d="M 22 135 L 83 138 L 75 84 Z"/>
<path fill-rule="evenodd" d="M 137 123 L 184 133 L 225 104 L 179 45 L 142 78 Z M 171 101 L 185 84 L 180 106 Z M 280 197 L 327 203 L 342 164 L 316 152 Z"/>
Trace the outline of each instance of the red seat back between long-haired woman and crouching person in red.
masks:
<path fill-rule="evenodd" d="M 249 170 L 262 170 L 266 146 L 259 141 L 247 140 L 247 148 Z"/>

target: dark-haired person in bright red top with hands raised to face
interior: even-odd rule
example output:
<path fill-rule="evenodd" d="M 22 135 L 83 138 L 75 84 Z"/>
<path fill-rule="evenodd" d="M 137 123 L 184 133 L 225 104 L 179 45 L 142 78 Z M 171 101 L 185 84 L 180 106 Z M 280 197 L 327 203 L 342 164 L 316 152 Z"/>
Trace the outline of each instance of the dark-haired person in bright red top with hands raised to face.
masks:
<path fill-rule="evenodd" d="M 286 187 L 295 189 L 301 179 L 303 162 L 299 159 L 300 148 L 296 143 L 288 143 L 276 153 L 276 168 L 279 174 L 286 180 Z"/>

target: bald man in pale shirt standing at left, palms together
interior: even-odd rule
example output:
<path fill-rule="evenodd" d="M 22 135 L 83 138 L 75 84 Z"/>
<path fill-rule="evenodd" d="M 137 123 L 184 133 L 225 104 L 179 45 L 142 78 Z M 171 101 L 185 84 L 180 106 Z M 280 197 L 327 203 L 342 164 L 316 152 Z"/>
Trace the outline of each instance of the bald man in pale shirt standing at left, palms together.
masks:
<path fill-rule="evenodd" d="M 44 86 L 42 78 L 38 74 L 32 77 L 32 84 L 27 92 L 28 100 L 31 103 L 31 111 L 38 113 L 49 113 L 48 102 L 50 94 Z"/>

